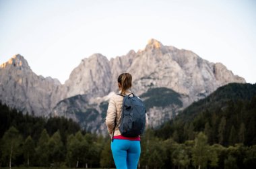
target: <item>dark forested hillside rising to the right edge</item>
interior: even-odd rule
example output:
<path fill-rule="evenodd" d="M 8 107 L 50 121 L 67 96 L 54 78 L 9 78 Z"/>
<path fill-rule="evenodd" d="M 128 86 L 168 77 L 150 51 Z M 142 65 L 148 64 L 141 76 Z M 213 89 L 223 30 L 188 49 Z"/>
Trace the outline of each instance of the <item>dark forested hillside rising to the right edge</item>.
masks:
<path fill-rule="evenodd" d="M 256 84 L 227 84 L 166 122 L 156 135 L 177 142 L 203 131 L 210 144 L 256 144 Z"/>

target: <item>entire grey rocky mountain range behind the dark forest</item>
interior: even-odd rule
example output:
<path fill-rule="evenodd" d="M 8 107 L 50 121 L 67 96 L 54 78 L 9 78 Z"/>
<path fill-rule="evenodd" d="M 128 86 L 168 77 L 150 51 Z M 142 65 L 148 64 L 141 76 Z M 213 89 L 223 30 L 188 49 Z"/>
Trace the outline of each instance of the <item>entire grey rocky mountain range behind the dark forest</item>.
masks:
<path fill-rule="evenodd" d="M 0 65 L 0 101 L 36 116 L 72 118 L 88 131 L 104 133 L 108 99 L 118 92 L 122 72 L 132 74 L 131 91 L 145 102 L 152 127 L 224 84 L 245 83 L 221 63 L 152 39 L 145 49 L 110 60 L 102 54 L 84 58 L 64 84 L 38 76 L 17 54 Z"/>

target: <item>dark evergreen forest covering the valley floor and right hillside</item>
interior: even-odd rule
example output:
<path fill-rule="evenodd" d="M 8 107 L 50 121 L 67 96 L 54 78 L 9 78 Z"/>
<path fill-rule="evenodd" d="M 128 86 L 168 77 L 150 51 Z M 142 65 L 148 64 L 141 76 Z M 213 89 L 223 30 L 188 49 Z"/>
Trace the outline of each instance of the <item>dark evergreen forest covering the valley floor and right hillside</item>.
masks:
<path fill-rule="evenodd" d="M 148 128 L 138 167 L 255 168 L 255 121 L 256 84 L 227 84 Z M 12 166 L 115 168 L 108 135 L 84 131 L 71 119 L 24 115 L 0 104 L 0 167 Z"/>

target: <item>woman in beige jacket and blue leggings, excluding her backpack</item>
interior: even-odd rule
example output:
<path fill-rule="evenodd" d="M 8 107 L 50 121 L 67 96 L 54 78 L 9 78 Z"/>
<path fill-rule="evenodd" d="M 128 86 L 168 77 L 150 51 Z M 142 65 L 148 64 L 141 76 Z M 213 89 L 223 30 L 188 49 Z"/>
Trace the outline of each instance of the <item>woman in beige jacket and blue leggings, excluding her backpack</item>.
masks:
<path fill-rule="evenodd" d="M 129 95 L 131 93 L 131 81 L 131 74 L 122 73 L 119 75 L 117 78 L 119 94 Z M 111 150 L 117 169 L 133 169 L 137 168 L 139 162 L 140 136 L 124 137 L 119 131 L 118 125 L 121 121 L 123 105 L 123 97 L 121 95 L 114 95 L 109 101 L 108 111 L 106 113 L 106 126 L 111 137 L 114 132 Z M 117 121 L 117 127 L 115 127 L 115 120 Z M 148 116 L 146 115 L 146 126 L 147 125 Z"/>

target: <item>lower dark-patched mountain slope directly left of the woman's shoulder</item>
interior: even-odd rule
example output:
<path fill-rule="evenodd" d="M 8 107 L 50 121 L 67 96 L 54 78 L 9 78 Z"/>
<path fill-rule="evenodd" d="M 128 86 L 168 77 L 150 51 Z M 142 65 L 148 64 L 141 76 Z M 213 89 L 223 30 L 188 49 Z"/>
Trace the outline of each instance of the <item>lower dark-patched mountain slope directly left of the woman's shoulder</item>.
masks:
<path fill-rule="evenodd" d="M 90 101 L 88 95 L 69 97 L 57 103 L 50 116 L 71 118 L 79 123 L 82 129 L 105 135 L 107 131 L 105 118 L 109 97 L 98 97 L 94 101 Z"/>

